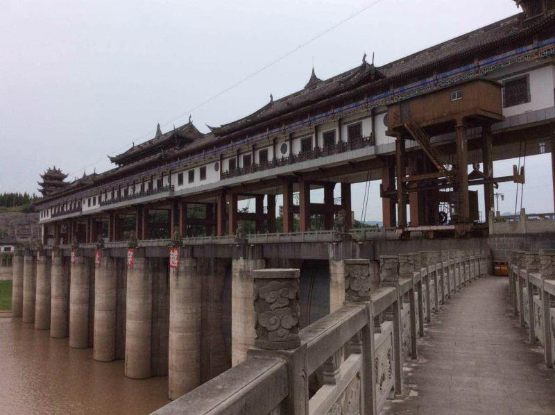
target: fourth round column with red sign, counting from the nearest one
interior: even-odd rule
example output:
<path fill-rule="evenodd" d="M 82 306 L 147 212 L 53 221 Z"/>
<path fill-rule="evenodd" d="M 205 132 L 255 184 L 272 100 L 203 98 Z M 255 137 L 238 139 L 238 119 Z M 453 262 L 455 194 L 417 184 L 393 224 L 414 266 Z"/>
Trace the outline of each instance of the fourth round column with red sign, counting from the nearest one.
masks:
<path fill-rule="evenodd" d="M 74 254 L 69 287 L 69 347 L 89 346 L 89 261 Z"/>

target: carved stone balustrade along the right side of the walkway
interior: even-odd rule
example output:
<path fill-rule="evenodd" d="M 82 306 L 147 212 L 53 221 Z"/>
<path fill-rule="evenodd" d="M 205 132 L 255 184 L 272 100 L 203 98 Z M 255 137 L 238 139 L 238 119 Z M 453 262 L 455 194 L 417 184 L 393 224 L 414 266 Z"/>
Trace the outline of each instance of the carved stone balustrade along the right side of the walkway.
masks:
<path fill-rule="evenodd" d="M 530 344 L 543 347 L 545 365 L 555 363 L 555 251 L 512 251 L 509 287 L 513 312 L 529 330 Z"/>

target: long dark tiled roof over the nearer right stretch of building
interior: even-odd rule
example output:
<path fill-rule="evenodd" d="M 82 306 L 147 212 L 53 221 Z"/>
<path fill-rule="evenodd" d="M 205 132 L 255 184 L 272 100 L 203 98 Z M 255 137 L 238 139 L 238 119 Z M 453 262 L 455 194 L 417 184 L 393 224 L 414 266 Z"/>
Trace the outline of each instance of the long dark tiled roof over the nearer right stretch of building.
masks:
<path fill-rule="evenodd" d="M 394 82 L 400 82 L 402 78 L 415 78 L 422 74 L 429 76 L 434 70 L 443 69 L 450 62 L 473 60 L 486 49 L 495 49 L 518 37 L 553 28 L 554 12 L 545 12 L 529 24 L 526 21 L 527 15 L 520 13 L 381 67 L 368 64 L 366 59 L 363 59 L 359 67 L 326 80 L 318 78 L 313 69 L 309 82 L 302 90 L 271 101 L 247 117 L 210 129 L 216 135 L 228 135 L 266 121 L 275 121 L 276 117 L 292 114 L 295 110 L 306 111 L 318 101 L 349 90 L 359 91 L 359 87 L 378 90 Z"/>

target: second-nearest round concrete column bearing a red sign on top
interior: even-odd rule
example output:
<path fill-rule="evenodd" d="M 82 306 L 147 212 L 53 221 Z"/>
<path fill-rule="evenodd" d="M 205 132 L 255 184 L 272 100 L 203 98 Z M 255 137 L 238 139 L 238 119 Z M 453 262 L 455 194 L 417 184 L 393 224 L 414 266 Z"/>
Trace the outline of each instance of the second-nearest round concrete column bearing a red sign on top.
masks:
<path fill-rule="evenodd" d="M 137 250 L 135 249 L 135 253 Z M 127 270 L 126 376 L 151 376 L 152 273 L 148 260 L 136 255 Z"/>

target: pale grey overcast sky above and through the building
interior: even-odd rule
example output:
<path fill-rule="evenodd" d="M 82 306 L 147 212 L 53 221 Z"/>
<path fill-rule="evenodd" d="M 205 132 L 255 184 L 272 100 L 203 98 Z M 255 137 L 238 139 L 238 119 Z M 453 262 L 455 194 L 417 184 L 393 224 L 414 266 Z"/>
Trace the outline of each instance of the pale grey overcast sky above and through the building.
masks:
<path fill-rule="evenodd" d="M 0 0 L 0 192 L 36 192 L 52 164 L 71 178 L 110 168 L 107 154 L 152 137 L 157 122 L 185 123 L 191 108 L 373 1 Z M 384 65 L 516 12 L 512 0 L 381 0 L 192 111 L 193 121 L 207 131 L 299 90 L 313 59 L 320 78 L 364 52 Z M 496 163 L 496 175 L 511 164 Z M 546 155 L 527 169 L 529 183 L 551 185 Z M 538 190 L 525 187 L 524 207 L 552 212 Z M 514 210 L 515 185 L 502 191 L 501 210 Z M 381 220 L 377 182 L 371 192 L 366 219 Z"/>

